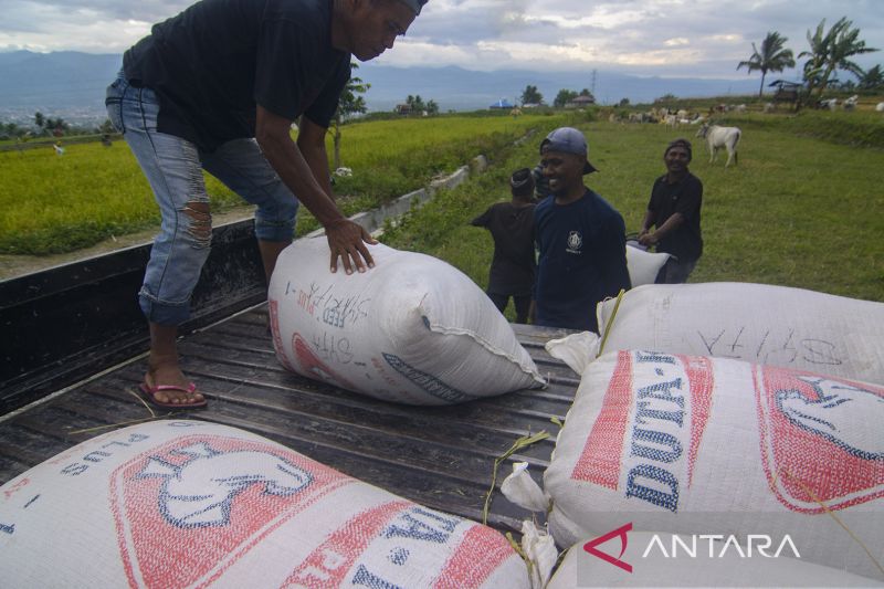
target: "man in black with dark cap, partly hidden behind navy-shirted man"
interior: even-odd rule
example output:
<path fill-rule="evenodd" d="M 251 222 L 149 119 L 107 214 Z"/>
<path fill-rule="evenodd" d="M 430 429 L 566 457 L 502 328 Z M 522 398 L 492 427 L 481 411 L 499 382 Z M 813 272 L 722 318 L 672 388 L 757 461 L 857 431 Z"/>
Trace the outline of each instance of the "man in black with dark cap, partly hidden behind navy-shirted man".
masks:
<path fill-rule="evenodd" d="M 534 253 L 534 178 L 522 168 L 509 177 L 509 202 L 492 204 L 472 224 L 484 227 L 494 239 L 488 271 L 488 298 L 503 313 L 513 297 L 516 323 L 528 323 L 532 288 L 537 272 Z"/>

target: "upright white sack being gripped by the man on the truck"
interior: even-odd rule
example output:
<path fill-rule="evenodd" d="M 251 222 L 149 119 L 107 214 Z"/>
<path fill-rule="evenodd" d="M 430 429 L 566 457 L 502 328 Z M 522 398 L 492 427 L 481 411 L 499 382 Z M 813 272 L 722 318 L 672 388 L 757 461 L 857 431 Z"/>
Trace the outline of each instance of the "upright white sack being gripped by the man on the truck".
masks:
<path fill-rule="evenodd" d="M 270 284 L 287 369 L 378 399 L 449 404 L 544 385 L 491 299 L 429 255 L 369 245 L 375 269 L 328 270 L 325 238 L 286 248 Z"/>

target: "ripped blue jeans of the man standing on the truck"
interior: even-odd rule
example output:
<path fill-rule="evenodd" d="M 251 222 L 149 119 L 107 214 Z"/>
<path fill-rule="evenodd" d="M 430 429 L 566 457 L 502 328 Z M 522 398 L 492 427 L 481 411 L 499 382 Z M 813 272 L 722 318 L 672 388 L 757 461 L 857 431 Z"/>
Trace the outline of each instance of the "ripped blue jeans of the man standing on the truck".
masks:
<path fill-rule="evenodd" d="M 138 302 L 149 322 L 180 325 L 190 317 L 190 297 L 211 248 L 202 170 L 257 207 L 259 240 L 291 241 L 298 202 L 254 139 L 234 139 L 204 152 L 186 139 L 158 133 L 156 94 L 131 86 L 122 72 L 107 87 L 105 105 L 144 170 L 162 217 Z"/>

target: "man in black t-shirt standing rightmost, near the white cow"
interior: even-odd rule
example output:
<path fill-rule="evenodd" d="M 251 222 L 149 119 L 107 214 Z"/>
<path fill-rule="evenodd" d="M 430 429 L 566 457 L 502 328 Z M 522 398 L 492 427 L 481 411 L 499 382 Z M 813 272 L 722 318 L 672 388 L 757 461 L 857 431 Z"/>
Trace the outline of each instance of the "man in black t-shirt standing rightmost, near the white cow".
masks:
<path fill-rule="evenodd" d="M 657 252 L 671 254 L 660 269 L 657 284 L 687 282 L 703 254 L 699 208 L 703 182 L 687 169 L 693 157 L 691 141 L 678 138 L 666 146 L 663 164 L 666 173 L 654 180 L 651 201 L 644 215 L 639 243 L 655 245 Z M 651 225 L 655 230 L 651 231 Z"/>

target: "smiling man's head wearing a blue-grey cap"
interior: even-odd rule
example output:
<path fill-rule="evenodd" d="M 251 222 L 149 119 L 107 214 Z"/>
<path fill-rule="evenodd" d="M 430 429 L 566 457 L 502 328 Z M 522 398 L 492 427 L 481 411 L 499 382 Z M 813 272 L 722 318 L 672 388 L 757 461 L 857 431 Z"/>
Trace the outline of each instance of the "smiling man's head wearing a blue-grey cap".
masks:
<path fill-rule="evenodd" d="M 596 171 L 587 160 L 587 139 L 572 127 L 559 127 L 540 141 L 540 165 L 549 191 L 564 194 L 583 186 L 583 175 Z"/>

